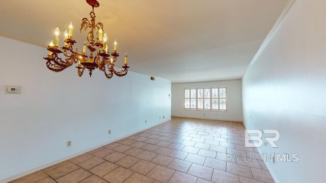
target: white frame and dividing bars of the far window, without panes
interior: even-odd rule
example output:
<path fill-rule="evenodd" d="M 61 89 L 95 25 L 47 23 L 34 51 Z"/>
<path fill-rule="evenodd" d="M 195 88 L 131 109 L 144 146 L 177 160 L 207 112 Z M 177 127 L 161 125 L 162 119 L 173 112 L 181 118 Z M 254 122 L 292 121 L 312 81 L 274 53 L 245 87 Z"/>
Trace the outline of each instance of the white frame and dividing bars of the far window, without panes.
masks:
<path fill-rule="evenodd" d="M 218 89 L 218 98 L 213 98 L 213 94 L 212 94 L 212 90 L 213 88 Z M 225 88 L 225 98 L 220 98 L 220 88 Z M 188 89 L 189 90 L 189 98 L 185 98 L 185 90 Z M 192 89 L 196 89 L 196 108 L 192 108 L 192 104 L 191 101 L 192 98 L 191 96 L 191 90 Z M 203 89 L 203 97 L 199 98 L 198 95 L 198 89 Z M 209 89 L 209 98 L 205 98 L 205 89 Z M 196 110 L 196 111 L 218 111 L 218 112 L 227 112 L 228 111 L 228 97 L 227 97 L 227 87 L 226 86 L 213 86 L 213 87 L 189 87 L 189 88 L 184 88 L 183 89 L 183 109 L 184 110 Z M 189 108 L 185 108 L 185 100 L 189 99 Z M 198 108 L 198 99 L 202 99 L 203 100 L 203 108 L 200 109 Z M 209 109 L 205 109 L 205 99 L 209 99 Z M 218 100 L 218 109 L 213 109 L 213 99 L 217 99 Z M 225 99 L 226 103 L 226 109 L 221 109 L 220 106 L 220 100 L 221 99 Z"/>

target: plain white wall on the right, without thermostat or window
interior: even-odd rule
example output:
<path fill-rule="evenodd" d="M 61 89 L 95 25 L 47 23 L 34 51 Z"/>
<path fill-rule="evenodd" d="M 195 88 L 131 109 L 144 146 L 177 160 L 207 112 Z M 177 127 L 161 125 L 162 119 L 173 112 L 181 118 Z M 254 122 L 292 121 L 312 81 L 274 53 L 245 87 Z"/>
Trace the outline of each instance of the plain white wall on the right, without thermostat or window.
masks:
<path fill-rule="evenodd" d="M 324 182 L 326 171 L 326 1 L 297 0 L 242 78 L 247 129 L 277 129 L 279 148 L 299 155 L 268 163 L 278 182 Z"/>

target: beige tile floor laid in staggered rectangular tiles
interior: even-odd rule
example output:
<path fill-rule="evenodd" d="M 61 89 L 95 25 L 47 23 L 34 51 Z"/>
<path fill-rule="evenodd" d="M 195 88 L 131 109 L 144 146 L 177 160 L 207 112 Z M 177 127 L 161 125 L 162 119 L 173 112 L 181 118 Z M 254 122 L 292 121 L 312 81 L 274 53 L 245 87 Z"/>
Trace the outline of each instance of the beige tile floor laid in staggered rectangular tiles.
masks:
<path fill-rule="evenodd" d="M 244 147 L 243 136 L 242 123 L 172 117 L 12 182 L 274 182 L 263 162 L 226 158 L 255 154 L 256 149 Z"/>

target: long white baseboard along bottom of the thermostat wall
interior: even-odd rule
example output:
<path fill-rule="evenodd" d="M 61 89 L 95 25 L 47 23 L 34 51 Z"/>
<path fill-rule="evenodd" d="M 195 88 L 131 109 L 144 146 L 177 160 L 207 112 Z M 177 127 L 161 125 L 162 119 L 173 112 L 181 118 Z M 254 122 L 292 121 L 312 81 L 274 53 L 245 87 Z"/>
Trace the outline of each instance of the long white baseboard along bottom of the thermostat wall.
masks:
<path fill-rule="evenodd" d="M 76 156 L 78 156 L 78 155 L 82 155 L 82 154 L 84 154 L 84 153 L 87 153 L 88 151 L 94 150 L 94 149 L 96 149 L 96 148 L 98 148 L 98 147 L 102 147 L 102 146 L 104 146 L 104 145 L 107 145 L 107 144 L 110 144 L 110 143 L 112 143 L 112 142 L 118 141 L 118 140 L 120 140 L 120 139 L 126 138 L 126 137 L 128 137 L 128 136 L 130 136 L 130 135 L 134 135 L 134 134 L 137 134 L 137 133 L 142 132 L 142 131 L 144 131 L 144 130 L 148 130 L 148 129 L 150 129 L 150 128 L 152 128 L 152 127 L 155 127 L 155 126 L 157 126 L 157 125 L 160 125 L 160 124 L 162 124 L 162 123 L 166 123 L 166 122 L 169 121 L 169 120 L 171 120 L 171 118 L 170 118 L 170 119 L 167 119 L 167 120 L 165 120 L 165 121 L 162 121 L 162 122 L 160 122 L 160 123 L 158 123 L 158 124 L 156 124 L 156 125 L 152 125 L 152 126 L 147 127 L 147 128 L 145 128 L 145 129 L 139 130 L 139 131 L 137 131 L 137 132 L 133 132 L 133 133 L 128 134 L 128 135 L 125 135 L 125 136 L 123 136 L 123 137 L 120 137 L 120 138 L 117 138 L 117 139 L 114 139 L 114 140 L 111 140 L 111 141 L 108 141 L 108 142 L 105 142 L 105 143 L 102 143 L 102 144 L 96 145 L 96 146 L 94 146 L 94 147 L 91 147 L 91 148 L 88 148 L 88 149 L 85 149 L 85 150 L 82 150 L 82 151 L 79 151 L 78 153 L 75 153 L 75 154 L 72 154 L 72 155 L 69 155 L 69 156 L 66 156 L 66 157 L 60 158 L 60 159 L 55 160 L 55 161 L 51 161 L 51 162 L 49 162 L 49 163 L 46 163 L 46 164 L 43 164 L 43 165 L 40 165 L 40 166 L 37 166 L 37 167 L 31 168 L 31 169 L 29 169 L 29 170 L 25 170 L 25 171 L 20 172 L 20 173 L 18 173 L 18 174 L 16 174 L 16 175 L 12 175 L 12 176 L 6 177 L 6 178 L 4 178 L 4 179 L 1 179 L 1 180 L 0 180 L 0 183 L 7 183 L 7 182 L 10 182 L 10 181 L 15 180 L 15 179 L 17 179 L 17 178 L 23 177 L 23 176 L 25 176 L 25 175 L 28 175 L 28 174 L 31 174 L 31 173 L 37 172 L 37 171 L 42 170 L 42 169 L 44 169 L 44 168 L 47 168 L 47 167 L 49 167 L 49 166 L 52 166 L 52 165 L 58 164 L 58 163 L 60 163 L 60 162 L 63 162 L 63 161 L 69 160 L 69 159 L 71 159 L 71 158 L 73 158 L 73 157 L 76 157 Z"/>

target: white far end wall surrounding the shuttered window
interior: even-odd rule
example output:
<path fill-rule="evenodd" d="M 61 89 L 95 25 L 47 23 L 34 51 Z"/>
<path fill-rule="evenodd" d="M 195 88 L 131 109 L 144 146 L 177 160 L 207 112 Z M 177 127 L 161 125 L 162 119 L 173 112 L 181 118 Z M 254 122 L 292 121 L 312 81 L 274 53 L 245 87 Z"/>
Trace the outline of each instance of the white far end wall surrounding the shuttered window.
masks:
<path fill-rule="evenodd" d="M 212 86 L 227 87 L 227 112 L 184 110 L 184 88 Z M 171 93 L 172 116 L 242 121 L 241 80 L 172 84 Z"/>

